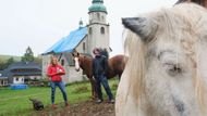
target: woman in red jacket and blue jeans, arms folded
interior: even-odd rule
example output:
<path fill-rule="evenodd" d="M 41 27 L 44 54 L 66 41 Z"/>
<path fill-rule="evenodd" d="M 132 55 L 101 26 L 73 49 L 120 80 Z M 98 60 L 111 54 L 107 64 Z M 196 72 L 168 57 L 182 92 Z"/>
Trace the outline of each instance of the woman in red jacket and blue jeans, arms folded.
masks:
<path fill-rule="evenodd" d="M 50 65 L 48 66 L 47 75 L 49 77 L 50 86 L 51 86 L 52 108 L 57 108 L 57 106 L 54 105 L 54 94 L 56 94 L 57 86 L 62 92 L 65 106 L 68 106 L 69 103 L 68 103 L 66 91 L 65 91 L 65 87 L 61 77 L 62 75 L 65 75 L 65 70 L 61 65 L 58 64 L 58 59 L 56 56 L 51 56 L 51 62 L 50 62 Z"/>

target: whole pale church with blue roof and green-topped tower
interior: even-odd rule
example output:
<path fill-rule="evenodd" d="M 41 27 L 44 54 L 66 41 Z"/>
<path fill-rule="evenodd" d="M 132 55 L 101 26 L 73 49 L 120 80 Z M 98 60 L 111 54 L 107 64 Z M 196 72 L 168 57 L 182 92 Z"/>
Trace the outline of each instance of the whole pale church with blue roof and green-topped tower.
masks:
<path fill-rule="evenodd" d="M 94 48 L 105 48 L 110 51 L 107 14 L 104 0 L 93 0 L 92 5 L 88 8 L 88 24 L 83 26 L 83 22 L 80 21 L 78 28 L 72 30 L 68 36 L 61 38 L 42 53 L 42 76 L 47 77 L 46 73 L 50 64 L 50 54 L 56 54 L 59 57 L 60 64 L 66 70 L 66 74 L 63 76 L 64 82 L 82 81 L 85 79 L 82 70 L 75 70 L 71 52 L 76 50 L 80 53 L 93 55 Z"/>

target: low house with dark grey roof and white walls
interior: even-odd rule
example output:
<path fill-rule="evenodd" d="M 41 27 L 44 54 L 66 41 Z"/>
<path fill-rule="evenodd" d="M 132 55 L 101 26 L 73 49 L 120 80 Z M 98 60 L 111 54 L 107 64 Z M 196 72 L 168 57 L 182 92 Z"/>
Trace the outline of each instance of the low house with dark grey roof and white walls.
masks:
<path fill-rule="evenodd" d="M 34 62 L 16 62 L 1 74 L 8 83 L 29 83 L 31 80 L 41 79 L 41 66 Z"/>

